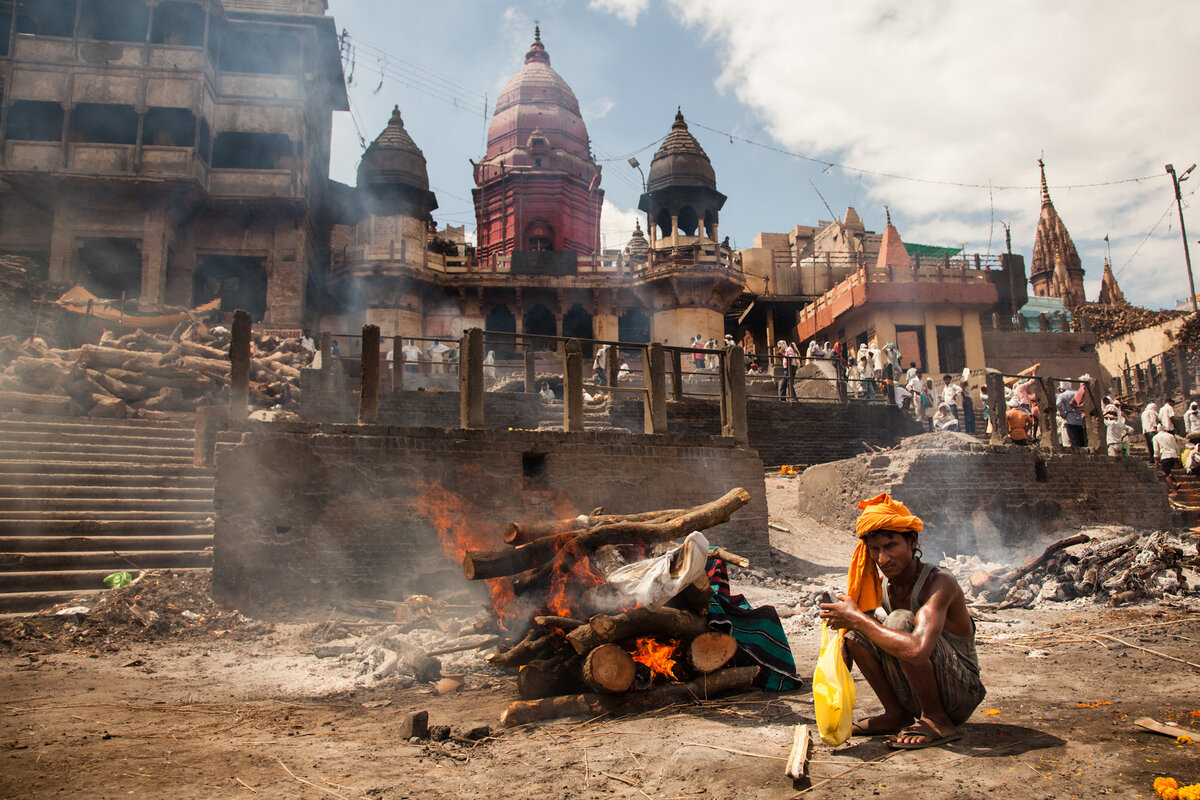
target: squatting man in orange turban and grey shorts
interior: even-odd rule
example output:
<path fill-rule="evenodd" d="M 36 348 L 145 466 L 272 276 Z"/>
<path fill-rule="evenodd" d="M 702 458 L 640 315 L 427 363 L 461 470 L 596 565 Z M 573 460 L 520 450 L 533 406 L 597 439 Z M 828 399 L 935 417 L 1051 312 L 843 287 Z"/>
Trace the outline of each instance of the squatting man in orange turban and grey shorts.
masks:
<path fill-rule="evenodd" d="M 883 704 L 882 714 L 856 722 L 852 735 L 887 735 L 896 750 L 954 741 L 986 693 L 962 589 L 920 560 L 924 525 L 902 503 L 880 494 L 858 507 L 847 594 L 821 604 L 821 619 L 846 631 L 847 666 L 858 664 Z M 880 607 L 883 613 L 872 613 Z"/>

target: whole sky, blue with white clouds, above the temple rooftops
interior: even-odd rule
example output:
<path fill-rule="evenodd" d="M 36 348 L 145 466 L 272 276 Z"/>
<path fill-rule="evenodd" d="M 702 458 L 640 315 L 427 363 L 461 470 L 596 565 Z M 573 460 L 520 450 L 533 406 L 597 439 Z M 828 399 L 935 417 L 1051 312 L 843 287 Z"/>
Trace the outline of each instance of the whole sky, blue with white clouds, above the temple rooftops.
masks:
<path fill-rule="evenodd" d="M 398 104 L 424 150 L 440 224 L 474 229 L 472 170 L 499 90 L 541 24 L 604 166 L 604 243 L 629 239 L 643 169 L 677 106 L 728 196 L 721 234 L 815 224 L 853 205 L 906 241 L 1013 248 L 1026 261 L 1039 157 L 1086 271 L 1105 241 L 1126 295 L 1188 294 L 1174 188 L 1200 161 L 1200 2 L 1012 0 L 330 0 L 347 31 L 350 114 L 335 115 L 332 178 L 354 182 Z M 1187 76 L 1193 76 L 1187 79 Z M 1200 170 L 1182 185 L 1200 269 Z"/>

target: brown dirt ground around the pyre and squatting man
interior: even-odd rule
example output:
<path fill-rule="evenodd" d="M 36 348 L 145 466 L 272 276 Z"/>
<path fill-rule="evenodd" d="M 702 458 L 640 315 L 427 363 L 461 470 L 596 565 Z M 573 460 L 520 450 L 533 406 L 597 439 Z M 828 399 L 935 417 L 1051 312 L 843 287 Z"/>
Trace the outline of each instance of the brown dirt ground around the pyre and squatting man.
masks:
<path fill-rule="evenodd" d="M 844 581 L 853 540 L 798 517 L 792 487 L 768 481 L 778 561 L 731 567 L 731 581 L 786 615 L 799 670 L 811 674 L 818 630 L 808 602 Z M 246 620 L 206 604 L 197 585 L 145 604 L 158 612 L 0 627 L 10 675 L 0 796 L 1151 798 L 1156 776 L 1200 781 L 1200 744 L 1133 724 L 1150 716 L 1200 729 L 1195 600 L 979 613 L 989 696 L 962 739 L 916 752 L 878 739 L 818 744 L 808 789 L 785 777 L 784 760 L 793 727 L 812 722 L 809 681 L 791 693 L 505 729 L 512 678 L 478 652 L 443 657 L 443 673 L 466 682 L 436 696 L 412 680 L 370 685 L 361 664 L 313 655 L 314 644 L 376 622 Z M 478 612 L 461 604 L 445 609 L 461 619 L 408 636 L 430 649 L 455 638 L 446 631 Z M 857 714 L 877 708 L 859 681 Z M 415 710 L 452 735 L 401 739 L 397 717 Z M 479 726 L 490 733 L 472 740 Z"/>

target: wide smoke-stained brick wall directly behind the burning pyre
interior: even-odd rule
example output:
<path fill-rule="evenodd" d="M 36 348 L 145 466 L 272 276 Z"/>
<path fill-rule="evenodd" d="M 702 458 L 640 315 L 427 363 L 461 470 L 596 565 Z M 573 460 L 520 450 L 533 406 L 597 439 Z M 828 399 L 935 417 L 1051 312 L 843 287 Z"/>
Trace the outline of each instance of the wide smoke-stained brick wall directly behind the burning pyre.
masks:
<path fill-rule="evenodd" d="M 251 608 L 466 588 L 439 530 L 503 548 L 514 519 L 690 506 L 737 486 L 752 500 L 710 539 L 764 558 L 762 462 L 721 439 L 313 425 L 226 433 L 214 597 Z"/>

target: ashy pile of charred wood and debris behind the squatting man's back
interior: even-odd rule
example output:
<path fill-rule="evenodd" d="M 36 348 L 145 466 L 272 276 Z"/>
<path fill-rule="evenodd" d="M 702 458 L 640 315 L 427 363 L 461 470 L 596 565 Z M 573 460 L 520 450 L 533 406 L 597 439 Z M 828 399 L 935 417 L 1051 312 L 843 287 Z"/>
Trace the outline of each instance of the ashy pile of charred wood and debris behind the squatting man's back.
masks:
<path fill-rule="evenodd" d="M 1195 545 L 1158 531 L 1106 541 L 1076 534 L 1060 540 L 1025 565 L 998 572 L 976 572 L 970 584 L 976 604 L 1030 608 L 1046 601 L 1091 597 L 1114 606 L 1188 591 L 1183 575 L 1200 566 Z"/>

